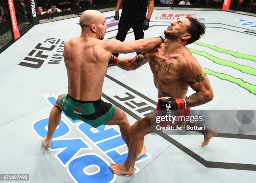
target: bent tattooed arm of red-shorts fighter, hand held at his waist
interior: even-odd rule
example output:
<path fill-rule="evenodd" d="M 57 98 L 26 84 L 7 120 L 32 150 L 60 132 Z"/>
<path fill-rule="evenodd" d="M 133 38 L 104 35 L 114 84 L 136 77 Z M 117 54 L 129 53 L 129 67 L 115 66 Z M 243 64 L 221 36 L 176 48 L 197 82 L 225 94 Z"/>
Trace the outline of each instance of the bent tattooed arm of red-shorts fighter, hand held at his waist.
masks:
<path fill-rule="evenodd" d="M 184 65 L 181 66 L 181 71 L 184 80 L 196 91 L 196 93 L 185 99 L 188 108 L 205 104 L 213 99 L 209 80 L 195 57 L 189 55 Z"/>

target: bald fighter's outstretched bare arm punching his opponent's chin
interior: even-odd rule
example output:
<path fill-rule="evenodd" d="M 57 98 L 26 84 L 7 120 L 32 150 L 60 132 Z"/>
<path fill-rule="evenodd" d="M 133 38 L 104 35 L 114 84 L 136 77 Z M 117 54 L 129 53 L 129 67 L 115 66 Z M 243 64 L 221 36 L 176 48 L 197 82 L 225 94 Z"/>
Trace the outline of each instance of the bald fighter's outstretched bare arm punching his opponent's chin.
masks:
<path fill-rule="evenodd" d="M 163 43 L 163 38 L 146 38 L 136 41 L 121 42 L 115 39 L 105 41 L 106 50 L 111 53 L 133 53 L 136 51 L 149 51 Z"/>

